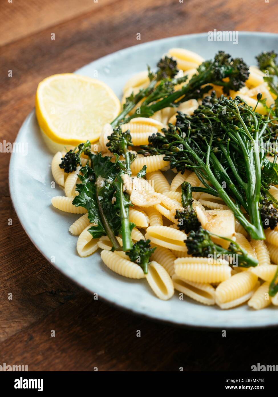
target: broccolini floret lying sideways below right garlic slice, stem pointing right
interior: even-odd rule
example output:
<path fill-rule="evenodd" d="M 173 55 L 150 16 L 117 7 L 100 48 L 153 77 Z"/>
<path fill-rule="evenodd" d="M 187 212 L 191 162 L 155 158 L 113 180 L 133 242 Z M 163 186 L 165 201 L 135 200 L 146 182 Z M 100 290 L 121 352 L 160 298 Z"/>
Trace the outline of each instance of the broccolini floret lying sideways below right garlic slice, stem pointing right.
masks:
<path fill-rule="evenodd" d="M 240 267 L 248 268 L 250 266 L 257 266 L 258 262 L 247 254 L 236 242 L 231 241 L 228 249 L 222 248 L 220 245 L 215 244 L 209 231 L 199 227 L 197 231 L 190 231 L 186 240 L 184 240 L 188 254 L 192 256 L 213 256 L 216 254 L 222 255 L 224 258 L 229 255 L 235 255 L 236 263 Z M 221 237 L 221 236 L 218 236 Z M 222 237 L 223 238 L 223 237 Z M 226 239 L 228 240 L 228 239 Z M 234 263 L 234 259 L 233 259 Z"/>

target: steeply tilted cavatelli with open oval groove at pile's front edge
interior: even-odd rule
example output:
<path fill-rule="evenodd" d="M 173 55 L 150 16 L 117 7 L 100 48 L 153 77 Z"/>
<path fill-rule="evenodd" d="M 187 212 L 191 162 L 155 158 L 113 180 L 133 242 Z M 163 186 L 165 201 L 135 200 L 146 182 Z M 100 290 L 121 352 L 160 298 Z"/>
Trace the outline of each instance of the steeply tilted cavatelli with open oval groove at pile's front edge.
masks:
<path fill-rule="evenodd" d="M 166 301 L 174 295 L 173 281 L 161 264 L 155 261 L 150 262 L 146 279 L 159 299 Z"/>

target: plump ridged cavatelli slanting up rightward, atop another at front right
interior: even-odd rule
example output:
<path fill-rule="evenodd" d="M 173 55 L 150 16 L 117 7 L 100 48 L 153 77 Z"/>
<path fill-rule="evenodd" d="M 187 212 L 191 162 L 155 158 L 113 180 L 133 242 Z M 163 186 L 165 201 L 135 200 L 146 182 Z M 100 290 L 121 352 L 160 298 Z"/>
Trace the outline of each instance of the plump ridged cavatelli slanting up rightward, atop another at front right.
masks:
<path fill-rule="evenodd" d="M 258 277 L 252 272 L 241 272 L 230 279 L 222 281 L 215 291 L 216 303 L 234 301 L 251 292 L 257 283 Z"/>

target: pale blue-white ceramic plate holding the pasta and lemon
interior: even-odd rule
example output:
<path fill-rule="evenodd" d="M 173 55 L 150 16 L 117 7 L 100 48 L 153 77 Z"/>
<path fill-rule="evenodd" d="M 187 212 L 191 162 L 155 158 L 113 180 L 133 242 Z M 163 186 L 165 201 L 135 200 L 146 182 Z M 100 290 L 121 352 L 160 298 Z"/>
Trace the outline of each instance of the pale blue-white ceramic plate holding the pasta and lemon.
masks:
<path fill-rule="evenodd" d="M 239 42 L 209 42 L 207 34 L 171 37 L 126 48 L 88 64 L 76 73 L 98 78 L 107 83 L 121 98 L 127 79 L 146 64 L 154 67 L 162 54 L 171 47 L 195 51 L 203 58 L 213 58 L 218 50 L 243 57 L 255 64 L 255 55 L 263 50 L 277 50 L 278 35 L 269 33 L 240 33 Z M 93 49 L 93 44 L 92 44 Z M 61 70 L 61 73 L 63 70 Z M 95 253 L 80 258 L 76 252 L 77 237 L 68 231 L 80 216 L 56 210 L 50 204 L 54 196 L 63 195 L 53 180 L 50 163 L 52 154 L 45 147 L 33 110 L 24 121 L 16 142 L 28 143 L 28 154 L 13 153 L 10 161 L 10 193 L 17 216 L 36 248 L 56 268 L 90 292 L 109 303 L 153 319 L 197 327 L 247 328 L 278 325 L 277 308 L 251 310 L 246 304 L 231 310 L 204 306 L 176 294 L 169 301 L 155 297 L 145 280 L 130 280 L 110 271 Z M 55 258 L 55 262 L 53 262 Z M 32 261 L 32 258 L 30 258 Z"/>

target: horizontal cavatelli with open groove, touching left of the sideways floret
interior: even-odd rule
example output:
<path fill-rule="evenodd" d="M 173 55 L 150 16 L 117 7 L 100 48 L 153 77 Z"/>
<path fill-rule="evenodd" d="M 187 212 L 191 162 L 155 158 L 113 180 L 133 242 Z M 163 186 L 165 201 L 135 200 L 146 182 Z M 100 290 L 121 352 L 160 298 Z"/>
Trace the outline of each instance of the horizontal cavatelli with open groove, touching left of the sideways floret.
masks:
<path fill-rule="evenodd" d="M 186 234 L 168 226 L 149 226 L 145 238 L 161 247 L 175 249 L 176 251 L 187 251 L 184 244 Z"/>

